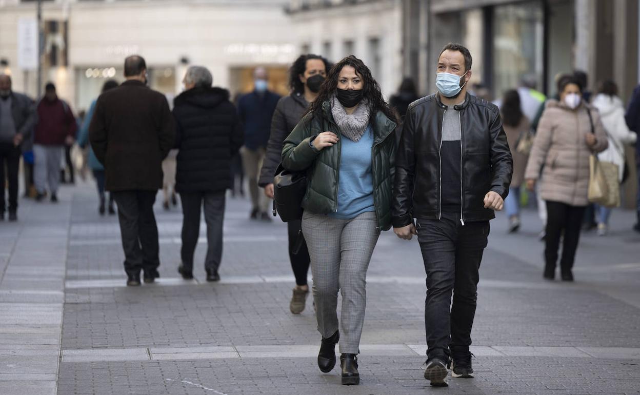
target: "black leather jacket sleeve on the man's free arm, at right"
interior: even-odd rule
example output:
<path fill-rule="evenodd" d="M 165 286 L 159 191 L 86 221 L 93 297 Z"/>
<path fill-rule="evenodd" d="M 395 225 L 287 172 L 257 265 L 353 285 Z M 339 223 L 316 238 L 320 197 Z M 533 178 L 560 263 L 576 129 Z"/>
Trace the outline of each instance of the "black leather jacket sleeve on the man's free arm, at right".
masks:
<path fill-rule="evenodd" d="M 491 191 L 498 193 L 503 199 L 509 195 L 509 185 L 513 175 L 513 158 L 507 142 L 507 134 L 502 128 L 500 112 L 495 108 L 489 125 L 491 137 L 490 163 L 492 166 Z"/>

